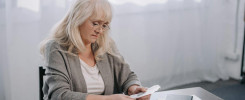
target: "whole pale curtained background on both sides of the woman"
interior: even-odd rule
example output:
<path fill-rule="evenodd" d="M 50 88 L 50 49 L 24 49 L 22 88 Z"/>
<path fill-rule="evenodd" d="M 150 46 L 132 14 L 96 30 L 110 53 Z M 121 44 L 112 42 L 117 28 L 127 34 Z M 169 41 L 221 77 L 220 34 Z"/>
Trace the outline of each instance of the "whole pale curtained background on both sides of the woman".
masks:
<path fill-rule="evenodd" d="M 110 35 L 144 86 L 239 85 L 245 0 L 109 1 Z M 0 0 L 0 100 L 39 98 L 38 45 L 72 2 Z"/>

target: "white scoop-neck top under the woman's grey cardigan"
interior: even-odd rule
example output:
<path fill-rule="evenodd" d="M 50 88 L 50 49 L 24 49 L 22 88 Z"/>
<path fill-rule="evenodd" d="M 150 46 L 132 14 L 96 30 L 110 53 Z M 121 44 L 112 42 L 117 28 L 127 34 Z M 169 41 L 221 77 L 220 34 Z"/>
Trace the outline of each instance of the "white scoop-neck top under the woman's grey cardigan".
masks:
<path fill-rule="evenodd" d="M 95 64 L 93 67 L 91 67 L 81 59 L 80 63 L 87 85 L 87 92 L 89 94 L 102 94 L 104 92 L 105 85 L 97 65 Z"/>

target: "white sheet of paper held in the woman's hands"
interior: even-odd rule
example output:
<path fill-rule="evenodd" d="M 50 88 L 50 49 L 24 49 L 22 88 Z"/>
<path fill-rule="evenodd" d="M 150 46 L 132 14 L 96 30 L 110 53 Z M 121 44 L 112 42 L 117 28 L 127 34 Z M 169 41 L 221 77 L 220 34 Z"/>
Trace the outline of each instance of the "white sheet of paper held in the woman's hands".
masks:
<path fill-rule="evenodd" d="M 159 89 L 160 89 L 159 85 L 154 85 L 154 86 L 148 88 L 146 92 L 141 92 L 141 93 L 138 93 L 138 94 L 134 94 L 134 95 L 131 95 L 130 97 L 131 98 L 140 98 L 140 97 L 152 94 L 152 93 L 156 92 Z"/>

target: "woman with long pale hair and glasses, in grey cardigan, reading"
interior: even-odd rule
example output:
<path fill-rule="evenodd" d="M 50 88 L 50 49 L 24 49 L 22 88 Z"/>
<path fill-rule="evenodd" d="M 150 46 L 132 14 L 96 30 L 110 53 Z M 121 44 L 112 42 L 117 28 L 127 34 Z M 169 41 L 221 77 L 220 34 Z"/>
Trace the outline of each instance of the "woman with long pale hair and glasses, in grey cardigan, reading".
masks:
<path fill-rule="evenodd" d="M 107 0 L 74 2 L 41 43 L 45 100 L 133 100 L 146 91 L 108 35 L 111 19 Z"/>

